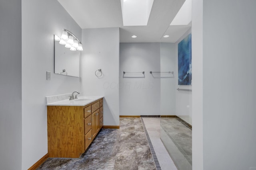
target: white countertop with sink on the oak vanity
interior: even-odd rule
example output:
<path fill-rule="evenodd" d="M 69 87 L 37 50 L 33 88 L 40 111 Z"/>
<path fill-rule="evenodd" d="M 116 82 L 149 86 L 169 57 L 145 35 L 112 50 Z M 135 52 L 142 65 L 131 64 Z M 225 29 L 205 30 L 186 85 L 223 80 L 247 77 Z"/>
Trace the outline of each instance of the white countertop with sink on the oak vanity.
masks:
<path fill-rule="evenodd" d="M 58 102 L 48 103 L 47 106 L 86 106 L 100 98 L 104 98 L 104 96 L 78 96 L 78 99 L 74 100 L 61 100 Z"/>

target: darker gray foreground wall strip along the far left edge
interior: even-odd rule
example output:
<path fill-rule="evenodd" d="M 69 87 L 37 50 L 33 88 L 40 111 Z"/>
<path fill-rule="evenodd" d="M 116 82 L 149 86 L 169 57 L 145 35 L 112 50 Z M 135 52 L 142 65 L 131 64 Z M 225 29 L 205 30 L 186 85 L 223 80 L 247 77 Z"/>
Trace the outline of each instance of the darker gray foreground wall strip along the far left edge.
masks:
<path fill-rule="evenodd" d="M 0 169 L 21 167 L 21 0 L 0 1 Z"/>

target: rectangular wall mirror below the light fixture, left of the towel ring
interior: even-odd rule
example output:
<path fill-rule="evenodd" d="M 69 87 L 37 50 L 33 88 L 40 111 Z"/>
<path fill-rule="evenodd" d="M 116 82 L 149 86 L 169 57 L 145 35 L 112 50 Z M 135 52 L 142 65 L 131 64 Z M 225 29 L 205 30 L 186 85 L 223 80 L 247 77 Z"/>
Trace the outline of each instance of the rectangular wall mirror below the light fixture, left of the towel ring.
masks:
<path fill-rule="evenodd" d="M 59 42 L 54 41 L 54 73 L 79 77 L 80 51 L 71 51 Z"/>

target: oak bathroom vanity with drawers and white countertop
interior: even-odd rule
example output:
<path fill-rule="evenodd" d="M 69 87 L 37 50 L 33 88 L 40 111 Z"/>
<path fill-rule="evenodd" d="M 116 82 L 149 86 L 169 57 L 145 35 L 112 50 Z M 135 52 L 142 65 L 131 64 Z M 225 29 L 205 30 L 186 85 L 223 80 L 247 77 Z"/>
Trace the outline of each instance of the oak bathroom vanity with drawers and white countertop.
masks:
<path fill-rule="evenodd" d="M 79 158 L 103 126 L 103 96 L 47 104 L 50 158 Z"/>

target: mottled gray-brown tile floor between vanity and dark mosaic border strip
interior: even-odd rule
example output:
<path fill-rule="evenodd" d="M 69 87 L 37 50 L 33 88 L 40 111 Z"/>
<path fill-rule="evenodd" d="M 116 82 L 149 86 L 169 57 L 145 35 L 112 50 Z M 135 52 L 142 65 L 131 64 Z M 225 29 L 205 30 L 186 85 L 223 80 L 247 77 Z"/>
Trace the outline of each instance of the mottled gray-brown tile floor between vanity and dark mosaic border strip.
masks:
<path fill-rule="evenodd" d="M 80 158 L 48 158 L 38 170 L 156 170 L 140 118 L 102 129 Z"/>

